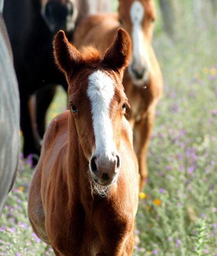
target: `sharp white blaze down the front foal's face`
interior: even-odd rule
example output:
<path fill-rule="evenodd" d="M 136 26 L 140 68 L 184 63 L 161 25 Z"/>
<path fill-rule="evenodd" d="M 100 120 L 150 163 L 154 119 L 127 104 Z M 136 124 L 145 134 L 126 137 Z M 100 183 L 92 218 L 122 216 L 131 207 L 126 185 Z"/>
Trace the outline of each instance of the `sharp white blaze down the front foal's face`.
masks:
<path fill-rule="evenodd" d="M 114 96 L 112 79 L 100 70 L 95 71 L 89 76 L 87 95 L 91 102 L 96 143 L 95 155 L 112 158 L 115 149 L 109 117 L 110 103 Z"/>

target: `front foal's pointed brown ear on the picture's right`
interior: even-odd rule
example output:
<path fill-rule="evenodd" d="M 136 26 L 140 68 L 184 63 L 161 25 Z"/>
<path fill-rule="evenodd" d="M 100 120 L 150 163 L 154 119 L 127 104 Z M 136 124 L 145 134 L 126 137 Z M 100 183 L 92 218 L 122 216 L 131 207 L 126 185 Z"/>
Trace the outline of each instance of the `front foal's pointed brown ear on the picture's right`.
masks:
<path fill-rule="evenodd" d="M 105 52 L 103 63 L 114 66 L 119 72 L 129 65 L 131 40 L 128 33 L 122 28 L 118 29 L 113 44 Z"/>

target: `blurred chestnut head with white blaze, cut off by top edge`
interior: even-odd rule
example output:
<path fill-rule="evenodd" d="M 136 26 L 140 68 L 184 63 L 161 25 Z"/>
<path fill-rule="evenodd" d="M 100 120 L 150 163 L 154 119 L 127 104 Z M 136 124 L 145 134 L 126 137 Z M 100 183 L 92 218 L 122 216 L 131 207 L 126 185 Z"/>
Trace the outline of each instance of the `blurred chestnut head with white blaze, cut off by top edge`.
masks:
<path fill-rule="evenodd" d="M 119 0 L 118 14 L 121 26 L 132 39 L 130 76 L 135 85 L 143 86 L 150 72 L 148 48 L 155 19 L 153 0 Z"/>

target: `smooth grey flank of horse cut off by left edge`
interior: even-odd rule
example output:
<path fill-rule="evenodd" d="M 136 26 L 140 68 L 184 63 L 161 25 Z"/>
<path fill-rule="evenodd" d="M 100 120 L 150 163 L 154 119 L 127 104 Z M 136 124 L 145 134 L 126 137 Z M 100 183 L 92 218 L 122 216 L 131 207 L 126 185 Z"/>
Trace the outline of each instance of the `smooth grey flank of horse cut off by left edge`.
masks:
<path fill-rule="evenodd" d="M 0 0 L 0 217 L 18 166 L 20 100 Z"/>

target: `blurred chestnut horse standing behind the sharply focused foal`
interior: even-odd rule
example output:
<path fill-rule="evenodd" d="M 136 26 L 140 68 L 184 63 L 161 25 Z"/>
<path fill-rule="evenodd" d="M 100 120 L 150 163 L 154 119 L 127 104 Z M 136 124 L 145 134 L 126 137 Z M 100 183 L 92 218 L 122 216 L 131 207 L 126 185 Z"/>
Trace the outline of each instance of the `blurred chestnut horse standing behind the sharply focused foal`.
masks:
<path fill-rule="evenodd" d="M 78 49 L 91 43 L 104 54 L 119 27 L 124 28 L 131 36 L 131 61 L 123 77 L 123 86 L 131 104 L 131 108 L 127 107 L 127 112 L 133 128 L 141 189 L 147 177 L 148 141 L 163 88 L 160 67 L 151 47 L 154 19 L 153 0 L 119 0 L 118 13 L 101 13 L 83 19 L 76 27 L 73 37 L 73 44 Z"/>

